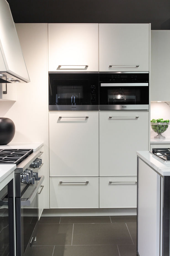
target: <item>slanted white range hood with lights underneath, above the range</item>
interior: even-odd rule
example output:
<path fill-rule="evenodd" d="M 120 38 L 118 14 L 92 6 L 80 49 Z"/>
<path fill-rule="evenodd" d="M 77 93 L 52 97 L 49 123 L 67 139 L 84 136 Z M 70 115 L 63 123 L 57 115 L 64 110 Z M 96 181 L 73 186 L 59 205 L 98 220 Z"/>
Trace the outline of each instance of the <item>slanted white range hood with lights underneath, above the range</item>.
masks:
<path fill-rule="evenodd" d="M 0 0 L 0 83 L 28 83 L 25 60 L 9 4 Z"/>

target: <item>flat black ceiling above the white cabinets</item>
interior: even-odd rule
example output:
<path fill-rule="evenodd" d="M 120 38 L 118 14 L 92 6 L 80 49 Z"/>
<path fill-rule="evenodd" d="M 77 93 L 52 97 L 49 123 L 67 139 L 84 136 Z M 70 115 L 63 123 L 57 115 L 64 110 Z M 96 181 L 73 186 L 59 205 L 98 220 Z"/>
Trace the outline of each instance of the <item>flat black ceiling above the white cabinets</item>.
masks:
<path fill-rule="evenodd" d="M 7 0 L 15 23 L 151 23 L 170 29 L 169 0 Z"/>

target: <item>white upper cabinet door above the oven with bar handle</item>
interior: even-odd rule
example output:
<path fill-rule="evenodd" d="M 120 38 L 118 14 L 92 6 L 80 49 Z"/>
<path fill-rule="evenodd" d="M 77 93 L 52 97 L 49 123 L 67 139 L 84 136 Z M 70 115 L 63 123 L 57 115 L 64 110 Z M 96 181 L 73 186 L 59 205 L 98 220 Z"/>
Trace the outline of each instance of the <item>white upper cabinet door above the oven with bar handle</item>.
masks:
<path fill-rule="evenodd" d="M 99 24 L 99 71 L 149 71 L 149 24 Z"/>

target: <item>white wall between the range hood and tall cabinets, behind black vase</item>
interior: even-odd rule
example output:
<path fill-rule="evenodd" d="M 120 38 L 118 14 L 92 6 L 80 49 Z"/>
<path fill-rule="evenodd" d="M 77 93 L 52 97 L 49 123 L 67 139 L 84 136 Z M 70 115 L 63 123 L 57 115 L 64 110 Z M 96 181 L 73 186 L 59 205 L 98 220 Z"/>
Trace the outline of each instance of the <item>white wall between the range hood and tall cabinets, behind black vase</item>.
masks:
<path fill-rule="evenodd" d="M 45 208 L 49 207 L 48 66 L 46 24 L 15 24 L 30 83 L 16 85 L 16 102 L 0 101 L 0 116 L 12 119 L 12 142 L 44 142 Z M 45 188 L 44 187 L 44 188 Z"/>

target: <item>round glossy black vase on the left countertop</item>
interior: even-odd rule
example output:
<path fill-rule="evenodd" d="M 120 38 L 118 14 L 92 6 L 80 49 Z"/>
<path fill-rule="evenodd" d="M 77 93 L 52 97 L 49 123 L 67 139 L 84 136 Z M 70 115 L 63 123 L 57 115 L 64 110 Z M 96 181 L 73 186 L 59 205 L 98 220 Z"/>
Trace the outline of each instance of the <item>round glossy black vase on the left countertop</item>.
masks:
<path fill-rule="evenodd" d="M 14 122 L 6 117 L 0 117 L 0 145 L 8 144 L 15 134 Z"/>

